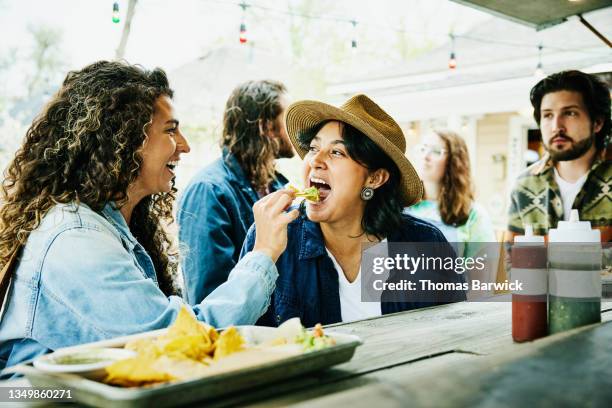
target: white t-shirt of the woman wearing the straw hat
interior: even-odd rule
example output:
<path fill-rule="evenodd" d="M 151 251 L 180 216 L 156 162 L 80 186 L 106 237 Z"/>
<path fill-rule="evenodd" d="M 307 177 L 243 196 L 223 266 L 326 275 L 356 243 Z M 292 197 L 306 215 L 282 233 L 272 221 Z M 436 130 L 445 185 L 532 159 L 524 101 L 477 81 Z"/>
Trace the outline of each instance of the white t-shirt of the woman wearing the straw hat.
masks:
<path fill-rule="evenodd" d="M 386 242 L 383 240 L 382 242 Z M 367 319 L 369 317 L 382 316 L 380 302 L 362 302 L 361 301 L 361 267 L 357 274 L 357 278 L 353 282 L 349 282 L 342 271 L 342 267 L 334 258 L 334 255 L 327 250 L 327 254 L 334 263 L 336 272 L 338 272 L 338 286 L 340 295 L 340 315 L 343 322 L 352 322 L 355 320 Z"/>

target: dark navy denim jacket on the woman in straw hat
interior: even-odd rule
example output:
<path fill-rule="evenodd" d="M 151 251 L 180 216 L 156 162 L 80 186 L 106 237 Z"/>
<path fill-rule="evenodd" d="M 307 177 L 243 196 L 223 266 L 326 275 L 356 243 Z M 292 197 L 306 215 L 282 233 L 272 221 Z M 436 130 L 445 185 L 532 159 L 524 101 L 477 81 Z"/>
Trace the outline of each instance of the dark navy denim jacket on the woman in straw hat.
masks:
<path fill-rule="evenodd" d="M 444 235 L 432 224 L 410 215 L 402 215 L 402 220 L 402 227 L 387 237 L 388 242 L 439 242 L 440 255 L 446 253 L 455 256 Z M 241 256 L 250 251 L 254 244 L 255 228 L 251 227 Z M 325 250 L 319 224 L 308 220 L 305 215 L 289 224 L 287 249 L 276 262 L 276 267 L 279 277 L 270 308 L 257 324 L 277 326 L 292 317 L 299 317 L 304 326 L 312 327 L 316 323 L 331 324 L 342 320 L 338 273 Z M 393 276 L 388 282 L 391 280 Z M 440 271 L 434 274 L 432 280 L 463 283 L 464 277 L 452 271 Z M 431 295 L 420 293 L 398 301 L 385 292 L 383 299 L 391 301 L 381 302 L 382 314 L 465 300 L 462 291 L 444 293 L 439 301 L 432 301 Z"/>

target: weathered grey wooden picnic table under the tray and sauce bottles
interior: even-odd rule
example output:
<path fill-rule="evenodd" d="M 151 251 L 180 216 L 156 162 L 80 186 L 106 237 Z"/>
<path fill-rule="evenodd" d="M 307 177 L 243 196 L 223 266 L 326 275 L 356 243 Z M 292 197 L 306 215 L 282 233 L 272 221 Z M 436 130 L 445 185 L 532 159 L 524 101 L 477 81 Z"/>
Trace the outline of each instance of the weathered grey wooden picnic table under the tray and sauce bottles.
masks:
<path fill-rule="evenodd" d="M 205 405 L 611 406 L 612 322 L 517 344 L 511 303 L 497 300 L 329 326 L 363 340 L 351 361 Z"/>

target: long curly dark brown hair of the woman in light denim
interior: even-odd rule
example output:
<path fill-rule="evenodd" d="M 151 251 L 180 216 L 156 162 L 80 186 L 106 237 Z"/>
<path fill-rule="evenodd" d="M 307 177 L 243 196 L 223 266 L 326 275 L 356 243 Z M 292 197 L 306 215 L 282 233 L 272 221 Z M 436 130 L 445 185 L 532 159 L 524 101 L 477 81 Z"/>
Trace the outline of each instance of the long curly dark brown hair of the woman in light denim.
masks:
<path fill-rule="evenodd" d="M 99 61 L 68 73 L 5 172 L 2 266 L 57 203 L 83 203 L 96 212 L 111 201 L 119 207 L 126 203 L 128 186 L 140 172 L 140 149 L 154 103 L 172 93 L 161 69 L 147 71 L 125 62 Z M 161 224 L 173 221 L 175 193 L 173 188 L 144 198 L 130 220 L 130 230 L 151 256 L 167 295 L 179 292 L 173 278 L 176 262 L 168 256 L 171 240 Z"/>

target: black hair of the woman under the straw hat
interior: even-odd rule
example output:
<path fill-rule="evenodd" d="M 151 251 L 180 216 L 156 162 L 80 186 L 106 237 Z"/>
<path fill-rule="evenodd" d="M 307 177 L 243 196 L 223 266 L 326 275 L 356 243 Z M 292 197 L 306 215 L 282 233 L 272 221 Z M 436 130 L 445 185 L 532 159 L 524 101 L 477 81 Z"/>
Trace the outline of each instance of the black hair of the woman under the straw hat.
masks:
<path fill-rule="evenodd" d="M 306 150 L 319 131 L 330 121 L 324 121 L 298 135 L 300 146 Z M 351 159 L 369 171 L 385 169 L 389 179 L 375 190 L 372 199 L 366 202 L 361 228 L 365 234 L 382 240 L 397 231 L 402 224 L 402 199 L 400 196 L 401 175 L 395 162 L 369 137 L 353 126 L 342 123 L 342 139 Z"/>

